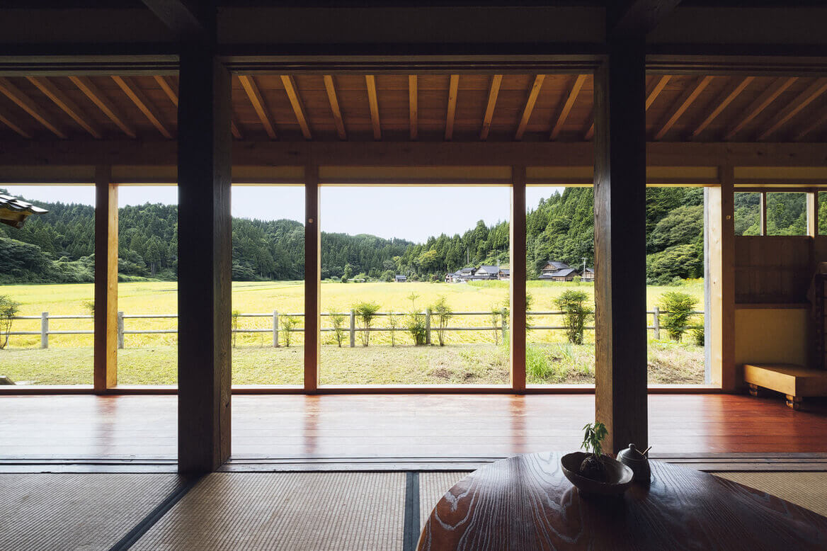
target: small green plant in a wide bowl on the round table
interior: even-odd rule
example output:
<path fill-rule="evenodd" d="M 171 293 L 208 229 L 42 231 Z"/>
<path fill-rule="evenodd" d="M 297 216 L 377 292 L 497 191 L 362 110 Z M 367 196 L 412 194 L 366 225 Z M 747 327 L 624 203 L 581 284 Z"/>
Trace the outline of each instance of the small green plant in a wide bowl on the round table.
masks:
<path fill-rule="evenodd" d="M 561 459 L 563 474 L 578 491 L 589 495 L 622 494 L 632 483 L 632 469 L 603 453 L 603 440 L 609 434 L 600 422 L 583 427 L 581 448 L 586 452 L 566 453 Z"/>

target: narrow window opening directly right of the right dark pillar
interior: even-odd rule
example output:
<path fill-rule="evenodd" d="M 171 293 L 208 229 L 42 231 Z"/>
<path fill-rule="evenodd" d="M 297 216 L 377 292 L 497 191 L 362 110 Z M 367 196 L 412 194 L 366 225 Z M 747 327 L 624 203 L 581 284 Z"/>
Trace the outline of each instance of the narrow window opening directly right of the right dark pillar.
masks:
<path fill-rule="evenodd" d="M 704 189 L 648 188 L 646 226 L 649 384 L 703 384 Z"/>

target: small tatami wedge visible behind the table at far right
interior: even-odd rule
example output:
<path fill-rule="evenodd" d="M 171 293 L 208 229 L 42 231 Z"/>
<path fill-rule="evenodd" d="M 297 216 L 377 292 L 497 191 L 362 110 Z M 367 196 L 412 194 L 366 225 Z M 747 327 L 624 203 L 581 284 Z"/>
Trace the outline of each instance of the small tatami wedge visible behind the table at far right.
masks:
<path fill-rule="evenodd" d="M 827 472 L 715 472 L 827 516 Z"/>

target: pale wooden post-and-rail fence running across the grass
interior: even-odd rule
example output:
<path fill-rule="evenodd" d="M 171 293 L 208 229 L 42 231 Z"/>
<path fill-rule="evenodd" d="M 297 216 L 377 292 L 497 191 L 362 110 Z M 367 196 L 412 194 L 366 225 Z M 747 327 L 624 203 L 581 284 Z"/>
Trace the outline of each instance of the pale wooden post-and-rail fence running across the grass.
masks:
<path fill-rule="evenodd" d="M 431 317 L 428 315 L 427 312 L 419 312 L 419 315 L 422 315 L 425 319 L 425 343 L 431 343 L 431 333 L 435 329 L 431 328 Z M 526 312 L 528 316 L 552 316 L 552 315 L 562 315 L 566 314 L 560 310 L 549 310 L 549 311 L 538 311 L 538 312 Z M 648 331 L 653 331 L 653 337 L 657 340 L 661 338 L 661 315 L 668 314 L 667 311 L 662 311 L 657 308 L 657 306 L 653 310 L 648 310 L 646 314 L 652 315 L 652 325 L 646 326 Z M 704 314 L 700 311 L 693 311 L 692 314 Z M 365 328 L 358 328 L 356 327 L 356 312 L 351 310 L 350 312 L 324 312 L 320 314 L 322 316 L 334 316 L 340 315 L 344 316 L 348 319 L 349 323 L 347 328 L 342 327 L 342 331 L 348 333 L 348 337 L 350 340 L 350 346 L 356 346 L 356 333 L 359 331 L 384 331 L 384 332 L 391 332 L 391 331 L 405 331 L 404 328 L 388 328 L 388 327 L 371 327 L 368 329 Z M 397 316 L 404 316 L 409 315 L 409 313 L 405 312 L 377 312 L 375 315 L 377 316 L 390 316 L 390 315 L 397 315 Z M 471 326 L 471 327 L 447 327 L 444 328 L 443 331 L 501 331 L 503 335 L 508 330 L 508 324 L 506 323 L 507 313 L 505 309 L 500 311 L 490 311 L 490 312 L 454 312 L 452 316 L 494 316 L 493 320 L 497 323 L 497 320 L 500 321 L 499 324 L 493 326 Z M 279 328 L 279 320 L 282 317 L 293 317 L 293 318 L 303 318 L 304 314 L 300 312 L 295 313 L 288 313 L 288 314 L 279 314 L 277 310 L 274 310 L 272 313 L 251 313 L 251 314 L 237 314 L 239 318 L 272 318 L 273 323 L 270 328 L 235 328 L 232 329 L 232 333 L 272 333 L 273 334 L 273 346 L 280 347 L 279 338 L 281 332 L 289 332 L 289 333 L 304 333 L 304 328 Z M 41 336 L 41 348 L 48 348 L 49 347 L 49 336 L 50 335 L 92 335 L 94 331 L 92 330 L 69 330 L 69 331 L 55 331 L 50 330 L 49 328 L 49 320 L 50 319 L 94 319 L 94 316 L 91 315 L 64 315 L 64 314 L 56 314 L 50 315 L 48 312 L 43 312 L 39 316 L 15 316 L 12 319 L 40 319 L 41 320 L 41 330 L 40 331 L 12 331 L 8 333 L 9 335 L 40 335 Z M 148 334 L 167 334 L 167 333 L 178 333 L 178 329 L 126 329 L 124 328 L 124 320 L 126 319 L 178 319 L 178 314 L 124 314 L 123 312 L 117 313 L 117 347 L 123 348 L 123 337 L 124 335 L 148 335 Z M 691 326 L 692 327 L 692 326 Z M 562 325 L 538 325 L 532 326 L 533 330 L 540 330 L 540 331 L 555 331 L 555 330 L 562 330 L 566 329 L 566 326 Z M 586 330 L 593 331 L 595 328 L 594 326 L 587 326 L 584 327 Z M 323 332 L 331 332 L 336 331 L 336 328 L 320 328 L 319 331 Z"/>

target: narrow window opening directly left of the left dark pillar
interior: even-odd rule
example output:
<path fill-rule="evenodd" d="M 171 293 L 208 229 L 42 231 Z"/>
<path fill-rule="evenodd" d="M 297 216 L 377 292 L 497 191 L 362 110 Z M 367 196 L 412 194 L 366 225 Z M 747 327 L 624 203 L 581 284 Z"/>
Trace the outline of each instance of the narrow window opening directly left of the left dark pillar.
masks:
<path fill-rule="evenodd" d="M 178 188 L 117 189 L 117 384 L 178 383 Z"/>

